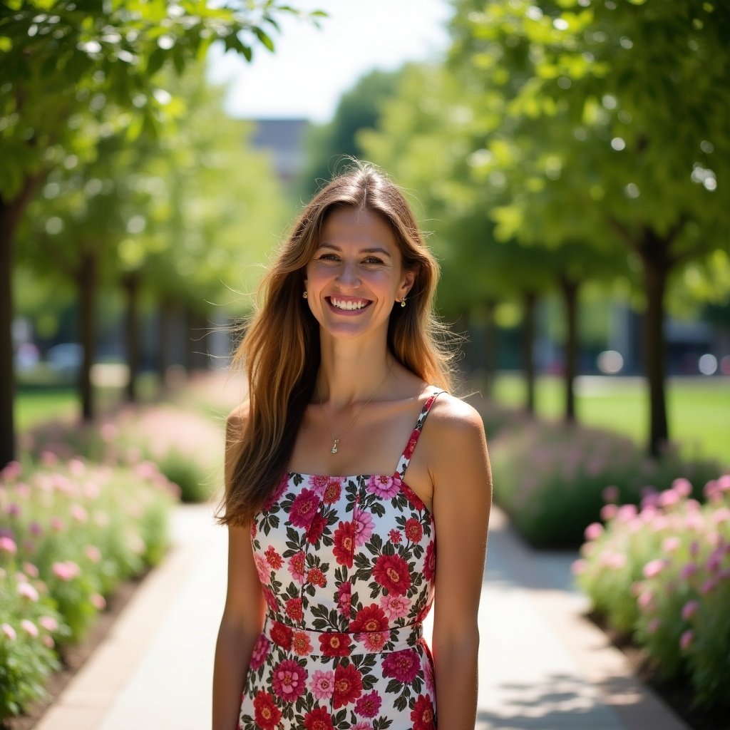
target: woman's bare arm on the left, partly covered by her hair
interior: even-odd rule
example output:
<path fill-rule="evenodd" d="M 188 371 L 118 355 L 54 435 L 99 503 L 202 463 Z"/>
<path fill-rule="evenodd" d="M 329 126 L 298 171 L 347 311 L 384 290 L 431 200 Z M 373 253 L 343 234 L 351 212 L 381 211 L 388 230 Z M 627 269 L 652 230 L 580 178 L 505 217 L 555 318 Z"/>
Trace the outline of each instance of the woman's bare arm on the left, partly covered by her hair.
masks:
<path fill-rule="evenodd" d="M 242 418 L 228 416 L 226 428 L 226 488 L 237 454 Z M 264 625 L 266 604 L 261 592 L 248 526 L 228 527 L 228 589 L 218 629 L 213 667 L 213 730 L 235 730 L 241 694 L 253 646 Z"/>

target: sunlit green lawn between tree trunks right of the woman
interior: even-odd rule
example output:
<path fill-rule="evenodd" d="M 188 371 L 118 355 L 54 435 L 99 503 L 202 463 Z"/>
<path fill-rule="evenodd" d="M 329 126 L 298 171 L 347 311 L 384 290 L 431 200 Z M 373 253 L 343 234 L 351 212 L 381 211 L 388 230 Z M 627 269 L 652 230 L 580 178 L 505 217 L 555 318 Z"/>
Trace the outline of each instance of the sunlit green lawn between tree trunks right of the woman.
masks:
<path fill-rule="evenodd" d="M 499 374 L 494 395 L 509 406 L 521 407 L 525 386 L 519 374 Z M 542 376 L 536 386 L 537 415 L 561 418 L 564 388 L 559 377 Z M 639 443 L 648 439 L 649 405 L 642 378 L 587 377 L 576 387 L 580 423 L 620 431 Z M 730 380 L 675 378 L 666 390 L 669 436 L 685 456 L 715 458 L 730 465 Z"/>

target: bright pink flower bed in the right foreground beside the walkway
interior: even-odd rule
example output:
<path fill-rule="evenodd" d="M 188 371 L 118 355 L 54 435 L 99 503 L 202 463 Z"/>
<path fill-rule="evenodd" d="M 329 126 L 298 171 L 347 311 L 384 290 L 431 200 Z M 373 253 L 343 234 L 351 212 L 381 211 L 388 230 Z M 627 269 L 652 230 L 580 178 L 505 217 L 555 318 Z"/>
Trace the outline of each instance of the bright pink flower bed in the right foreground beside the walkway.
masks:
<path fill-rule="evenodd" d="M 730 475 L 677 479 L 639 507 L 610 502 L 586 529 L 577 583 L 612 629 L 642 647 L 662 680 L 689 677 L 701 707 L 729 707 Z M 615 492 L 607 494 L 615 499 Z"/>

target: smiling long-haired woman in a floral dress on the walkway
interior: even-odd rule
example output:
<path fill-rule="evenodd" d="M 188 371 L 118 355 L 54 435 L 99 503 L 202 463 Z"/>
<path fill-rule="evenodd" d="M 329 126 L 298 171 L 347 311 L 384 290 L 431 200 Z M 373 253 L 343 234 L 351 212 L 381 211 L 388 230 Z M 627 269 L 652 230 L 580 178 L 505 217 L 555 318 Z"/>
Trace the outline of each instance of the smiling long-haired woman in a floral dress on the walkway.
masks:
<path fill-rule="evenodd" d="M 491 477 L 477 412 L 442 390 L 437 275 L 400 191 L 358 164 L 264 280 L 228 417 L 214 730 L 427 730 L 437 707 L 475 725 Z"/>

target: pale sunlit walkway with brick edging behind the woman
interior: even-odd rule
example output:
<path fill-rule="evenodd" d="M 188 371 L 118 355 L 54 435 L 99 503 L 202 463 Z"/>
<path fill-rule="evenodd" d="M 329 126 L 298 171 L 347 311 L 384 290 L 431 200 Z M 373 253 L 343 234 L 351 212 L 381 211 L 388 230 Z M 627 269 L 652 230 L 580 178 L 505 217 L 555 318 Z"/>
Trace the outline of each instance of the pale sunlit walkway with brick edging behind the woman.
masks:
<path fill-rule="evenodd" d="M 174 546 L 36 730 L 210 728 L 226 530 L 210 505 L 174 513 Z M 477 730 L 680 730 L 583 618 L 566 553 L 526 548 L 494 510 L 480 607 Z M 448 730 L 448 729 L 445 729 Z"/>

